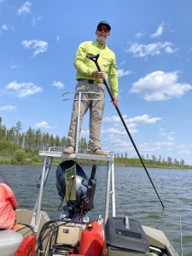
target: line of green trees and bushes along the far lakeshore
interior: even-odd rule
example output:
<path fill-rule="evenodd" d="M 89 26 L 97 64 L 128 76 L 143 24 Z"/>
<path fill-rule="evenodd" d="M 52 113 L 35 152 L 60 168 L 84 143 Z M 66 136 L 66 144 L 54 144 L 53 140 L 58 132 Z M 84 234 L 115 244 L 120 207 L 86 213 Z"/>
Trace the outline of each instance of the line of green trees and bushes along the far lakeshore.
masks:
<path fill-rule="evenodd" d="M 67 147 L 67 137 L 54 136 L 48 132 L 43 132 L 40 129 L 32 129 L 32 127 L 29 127 L 26 132 L 23 132 L 20 121 L 18 121 L 15 126 L 8 128 L 6 125 L 3 125 L 3 119 L 0 116 L 0 157 L 9 156 L 14 159 L 16 154 L 18 159 L 26 159 L 27 157 L 33 157 L 34 159 L 36 157 L 37 159 L 38 151 L 48 150 L 49 147 Z M 89 142 L 87 142 L 84 137 L 79 141 L 79 148 L 90 148 Z M 26 156 L 24 152 L 28 155 Z M 140 161 L 137 158 L 130 158 L 127 152 L 124 154 L 117 153 L 114 154 L 114 156 L 117 164 L 124 164 L 127 166 L 140 165 Z M 165 159 L 161 157 L 161 155 L 159 155 L 159 157 L 152 155 L 151 159 L 149 159 L 148 154 L 146 156 L 142 155 L 142 158 L 149 166 L 185 166 L 183 159 L 177 160 L 172 159 L 171 157 Z M 16 163 L 15 160 L 12 160 L 12 162 Z"/>

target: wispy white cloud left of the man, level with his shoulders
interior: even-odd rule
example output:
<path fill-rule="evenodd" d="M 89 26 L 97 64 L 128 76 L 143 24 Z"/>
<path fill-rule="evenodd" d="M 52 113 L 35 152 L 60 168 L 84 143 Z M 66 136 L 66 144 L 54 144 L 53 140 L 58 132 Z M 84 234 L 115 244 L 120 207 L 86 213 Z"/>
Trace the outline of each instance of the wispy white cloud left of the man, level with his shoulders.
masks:
<path fill-rule="evenodd" d="M 24 40 L 21 45 L 26 49 L 34 49 L 33 55 L 38 55 L 48 49 L 48 43 L 42 40 Z"/>

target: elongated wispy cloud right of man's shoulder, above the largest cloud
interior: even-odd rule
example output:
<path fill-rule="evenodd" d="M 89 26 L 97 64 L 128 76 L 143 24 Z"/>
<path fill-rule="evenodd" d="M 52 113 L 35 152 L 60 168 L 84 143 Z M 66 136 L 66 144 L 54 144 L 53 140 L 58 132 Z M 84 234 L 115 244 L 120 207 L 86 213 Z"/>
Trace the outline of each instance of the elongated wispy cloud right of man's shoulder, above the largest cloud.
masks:
<path fill-rule="evenodd" d="M 160 55 L 162 52 L 172 54 L 177 49 L 173 49 L 173 44 L 169 42 L 153 43 L 153 44 L 128 44 L 126 52 L 131 53 L 134 57 L 143 58 L 147 55 Z"/>

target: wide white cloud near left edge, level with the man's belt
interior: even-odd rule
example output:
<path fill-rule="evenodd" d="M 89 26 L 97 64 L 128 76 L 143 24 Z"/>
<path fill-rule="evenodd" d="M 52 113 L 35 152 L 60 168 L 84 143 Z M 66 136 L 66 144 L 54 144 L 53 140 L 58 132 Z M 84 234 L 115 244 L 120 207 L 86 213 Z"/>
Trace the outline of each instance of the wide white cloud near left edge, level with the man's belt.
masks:
<path fill-rule="evenodd" d="M 41 87 L 33 84 L 32 82 L 18 84 L 16 81 L 9 83 L 6 87 L 7 90 L 15 90 L 20 97 L 30 96 L 42 91 Z"/>

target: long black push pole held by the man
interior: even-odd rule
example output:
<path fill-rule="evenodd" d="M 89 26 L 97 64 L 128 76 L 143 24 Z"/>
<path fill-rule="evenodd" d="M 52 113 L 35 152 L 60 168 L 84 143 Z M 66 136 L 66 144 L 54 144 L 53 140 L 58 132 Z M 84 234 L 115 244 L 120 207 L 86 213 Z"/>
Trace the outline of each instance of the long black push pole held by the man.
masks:
<path fill-rule="evenodd" d="M 99 66 L 99 63 L 98 63 L 98 61 L 97 61 L 98 58 L 99 58 L 99 55 L 87 55 L 87 58 L 90 59 L 91 61 L 94 61 L 95 64 L 96 64 L 96 67 L 97 67 L 98 71 L 102 72 L 102 69 L 101 69 L 101 67 Z M 106 79 L 103 79 L 103 83 L 105 84 L 105 86 L 106 86 L 106 88 L 107 88 L 107 90 L 108 90 L 108 94 L 109 94 L 109 96 L 111 97 L 111 100 L 112 100 L 112 102 L 113 102 L 113 96 L 112 96 L 111 90 L 110 90 L 109 87 L 108 87 L 108 83 L 107 83 Z M 150 175 L 149 175 L 149 173 L 148 173 L 148 170 L 147 170 L 146 166 L 144 165 L 144 162 L 143 162 L 143 159 L 142 159 L 142 157 L 141 157 L 141 154 L 139 153 L 139 151 L 138 151 L 138 149 L 137 149 L 137 146 L 136 146 L 136 144 L 134 143 L 133 138 L 131 137 L 131 133 L 130 133 L 129 129 L 127 128 L 126 124 L 125 124 L 125 120 L 124 120 L 124 118 L 122 117 L 122 114 L 120 113 L 119 108 L 118 108 L 117 106 L 114 106 L 114 107 L 116 108 L 117 112 L 119 113 L 119 118 L 121 119 L 121 121 L 122 121 L 122 123 L 123 123 L 123 125 L 124 125 L 124 127 L 125 127 L 125 131 L 127 132 L 128 136 L 130 137 L 131 143 L 133 144 L 133 147 L 135 148 L 135 150 L 136 150 L 136 152 L 137 152 L 137 155 L 138 155 L 138 157 L 139 157 L 139 159 L 140 159 L 140 161 L 141 161 L 141 163 L 142 163 L 142 165 L 143 165 L 143 168 L 144 168 L 145 172 L 147 173 L 148 178 L 149 178 L 150 182 L 152 183 L 152 185 L 153 185 L 153 187 L 154 187 L 154 183 L 153 183 L 153 181 L 152 181 L 152 179 L 151 179 L 151 177 L 150 177 Z M 155 187 L 154 187 L 154 191 L 155 191 L 156 195 L 158 196 L 158 198 L 159 198 L 159 200 L 160 200 L 161 206 L 162 206 L 163 209 L 164 209 L 164 204 L 163 204 L 163 202 L 161 201 L 160 195 L 158 194 L 157 189 L 156 189 Z"/>

